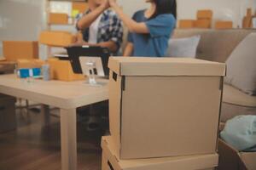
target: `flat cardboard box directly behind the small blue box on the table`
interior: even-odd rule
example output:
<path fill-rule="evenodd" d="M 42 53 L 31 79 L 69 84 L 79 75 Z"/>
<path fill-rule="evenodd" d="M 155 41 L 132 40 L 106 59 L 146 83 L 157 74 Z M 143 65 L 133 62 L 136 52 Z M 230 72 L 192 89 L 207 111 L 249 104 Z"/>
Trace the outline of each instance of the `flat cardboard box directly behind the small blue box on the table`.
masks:
<path fill-rule="evenodd" d="M 42 59 L 18 59 L 17 68 L 41 68 L 45 64 Z"/>

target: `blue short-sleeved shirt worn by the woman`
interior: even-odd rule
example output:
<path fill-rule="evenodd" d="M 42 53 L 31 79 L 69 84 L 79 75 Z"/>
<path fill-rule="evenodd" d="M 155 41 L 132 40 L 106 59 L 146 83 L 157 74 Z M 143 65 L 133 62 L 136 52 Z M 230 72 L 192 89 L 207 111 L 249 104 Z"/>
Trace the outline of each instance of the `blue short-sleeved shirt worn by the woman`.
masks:
<path fill-rule="evenodd" d="M 129 32 L 128 42 L 132 42 L 134 47 L 132 56 L 163 57 L 176 20 L 172 14 L 160 14 L 148 20 L 144 13 L 145 10 L 140 10 L 132 17 L 137 22 L 144 22 L 149 31 L 147 34 Z"/>

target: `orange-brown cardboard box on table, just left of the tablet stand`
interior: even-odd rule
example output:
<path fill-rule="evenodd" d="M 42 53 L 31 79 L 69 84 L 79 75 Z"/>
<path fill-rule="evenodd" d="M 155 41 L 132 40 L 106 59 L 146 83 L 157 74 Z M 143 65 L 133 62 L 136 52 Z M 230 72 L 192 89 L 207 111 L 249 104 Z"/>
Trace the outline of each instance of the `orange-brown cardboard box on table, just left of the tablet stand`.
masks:
<path fill-rule="evenodd" d="M 55 80 L 71 82 L 84 80 L 82 74 L 73 73 L 72 66 L 68 60 L 49 59 L 50 77 Z"/>

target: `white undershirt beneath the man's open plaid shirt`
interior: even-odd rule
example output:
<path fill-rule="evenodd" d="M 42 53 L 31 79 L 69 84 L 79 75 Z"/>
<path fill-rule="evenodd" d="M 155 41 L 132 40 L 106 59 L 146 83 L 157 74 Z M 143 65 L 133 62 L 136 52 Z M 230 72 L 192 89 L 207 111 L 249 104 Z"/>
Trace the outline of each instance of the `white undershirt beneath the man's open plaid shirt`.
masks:
<path fill-rule="evenodd" d="M 102 14 L 90 25 L 89 28 L 89 43 L 97 43 L 99 24 L 102 19 Z"/>

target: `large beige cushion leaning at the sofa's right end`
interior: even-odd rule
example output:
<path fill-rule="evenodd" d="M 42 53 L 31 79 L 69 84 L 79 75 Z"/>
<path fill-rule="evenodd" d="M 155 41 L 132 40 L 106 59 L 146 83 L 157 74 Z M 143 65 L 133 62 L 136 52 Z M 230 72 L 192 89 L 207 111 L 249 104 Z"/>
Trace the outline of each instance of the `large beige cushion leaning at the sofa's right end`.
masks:
<path fill-rule="evenodd" d="M 256 94 L 256 33 L 251 33 L 232 52 L 227 60 L 225 82 L 247 94 Z"/>

